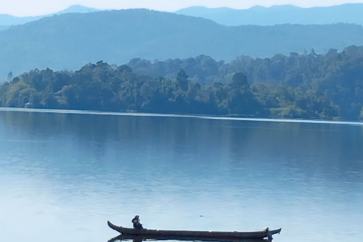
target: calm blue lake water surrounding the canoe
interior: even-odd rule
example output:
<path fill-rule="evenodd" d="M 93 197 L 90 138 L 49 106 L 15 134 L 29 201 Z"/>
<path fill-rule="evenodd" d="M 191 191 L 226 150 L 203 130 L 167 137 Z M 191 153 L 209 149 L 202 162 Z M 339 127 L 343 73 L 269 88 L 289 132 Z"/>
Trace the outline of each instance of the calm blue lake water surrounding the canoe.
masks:
<path fill-rule="evenodd" d="M 107 220 L 355 242 L 363 126 L 0 111 L 1 241 L 106 242 Z M 203 216 L 203 217 L 201 217 Z"/>

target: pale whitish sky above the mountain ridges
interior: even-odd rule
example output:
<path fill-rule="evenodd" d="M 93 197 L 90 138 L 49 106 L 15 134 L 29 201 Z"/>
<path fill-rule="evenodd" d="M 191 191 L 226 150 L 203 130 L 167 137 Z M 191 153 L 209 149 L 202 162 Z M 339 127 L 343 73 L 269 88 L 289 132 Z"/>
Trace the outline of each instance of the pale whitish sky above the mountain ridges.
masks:
<path fill-rule="evenodd" d="M 191 6 L 230 7 L 245 9 L 254 5 L 293 4 L 299 7 L 331 6 L 344 3 L 363 3 L 363 0 L 0 0 L 0 13 L 15 16 L 37 16 L 80 4 L 99 9 L 149 8 L 176 11 Z"/>

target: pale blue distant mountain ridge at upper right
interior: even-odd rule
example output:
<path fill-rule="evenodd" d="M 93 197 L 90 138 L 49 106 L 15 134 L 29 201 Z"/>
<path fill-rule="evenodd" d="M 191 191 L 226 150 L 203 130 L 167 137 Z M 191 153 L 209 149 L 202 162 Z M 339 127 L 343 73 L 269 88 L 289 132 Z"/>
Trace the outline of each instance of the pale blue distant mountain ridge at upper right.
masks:
<path fill-rule="evenodd" d="M 269 8 L 254 6 L 249 9 L 190 7 L 175 13 L 203 17 L 227 26 L 275 24 L 334 24 L 363 25 L 363 3 L 331 7 L 300 8 L 294 5 L 276 5 Z"/>

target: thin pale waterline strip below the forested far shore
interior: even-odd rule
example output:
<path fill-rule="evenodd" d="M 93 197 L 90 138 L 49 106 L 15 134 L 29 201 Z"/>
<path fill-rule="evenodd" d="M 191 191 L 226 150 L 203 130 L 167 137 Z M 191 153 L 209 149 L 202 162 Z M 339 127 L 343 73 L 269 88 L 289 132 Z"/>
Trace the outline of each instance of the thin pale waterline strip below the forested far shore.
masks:
<path fill-rule="evenodd" d="M 285 118 L 241 118 L 233 116 L 212 116 L 212 115 L 187 115 L 187 114 L 157 114 L 142 112 L 106 112 L 91 110 L 64 110 L 64 109 L 41 109 L 41 108 L 12 108 L 0 107 L 0 112 L 43 112 L 60 114 L 93 114 L 93 115 L 115 115 L 115 116 L 149 116 L 149 117 L 175 117 L 175 118 L 200 118 L 215 120 L 240 120 L 240 121 L 259 121 L 259 122 L 285 122 L 285 123 L 320 123 L 320 124 L 347 124 L 363 126 L 363 122 L 358 121 L 333 121 L 333 120 L 314 120 L 314 119 L 285 119 Z"/>

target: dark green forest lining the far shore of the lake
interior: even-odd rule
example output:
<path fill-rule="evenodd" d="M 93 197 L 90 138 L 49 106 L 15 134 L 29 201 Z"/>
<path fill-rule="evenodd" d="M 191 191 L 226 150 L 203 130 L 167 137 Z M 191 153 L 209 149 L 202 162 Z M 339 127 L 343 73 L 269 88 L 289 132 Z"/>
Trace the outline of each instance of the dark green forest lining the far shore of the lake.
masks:
<path fill-rule="evenodd" d="M 4 107 L 363 119 L 363 46 L 325 55 L 209 56 L 127 65 L 102 61 L 75 72 L 32 70 L 0 86 Z"/>

